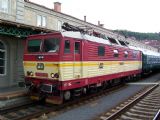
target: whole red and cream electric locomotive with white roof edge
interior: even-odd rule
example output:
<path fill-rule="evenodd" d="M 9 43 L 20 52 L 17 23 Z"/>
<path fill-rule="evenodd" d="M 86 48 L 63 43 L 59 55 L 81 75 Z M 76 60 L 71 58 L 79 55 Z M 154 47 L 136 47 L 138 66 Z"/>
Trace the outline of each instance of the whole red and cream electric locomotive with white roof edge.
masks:
<path fill-rule="evenodd" d="M 77 93 L 139 76 L 141 54 L 123 41 L 77 30 L 31 35 L 24 52 L 25 81 L 32 99 L 45 96 L 46 102 L 60 104 Z"/>

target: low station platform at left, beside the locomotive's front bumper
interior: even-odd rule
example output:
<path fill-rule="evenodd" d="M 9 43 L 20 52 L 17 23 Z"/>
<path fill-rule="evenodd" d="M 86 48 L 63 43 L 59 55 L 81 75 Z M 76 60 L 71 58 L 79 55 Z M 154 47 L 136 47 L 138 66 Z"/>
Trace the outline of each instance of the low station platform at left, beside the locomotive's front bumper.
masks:
<path fill-rule="evenodd" d="M 30 102 L 27 91 L 28 88 L 18 86 L 0 88 L 0 110 Z"/>

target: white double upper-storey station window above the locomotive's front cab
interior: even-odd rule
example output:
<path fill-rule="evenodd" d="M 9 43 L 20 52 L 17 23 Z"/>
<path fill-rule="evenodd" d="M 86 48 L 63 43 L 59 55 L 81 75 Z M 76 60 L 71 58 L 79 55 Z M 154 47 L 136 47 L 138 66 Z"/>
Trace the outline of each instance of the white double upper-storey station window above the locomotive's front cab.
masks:
<path fill-rule="evenodd" d="M 46 27 L 46 17 L 42 15 L 37 15 L 37 26 Z"/>

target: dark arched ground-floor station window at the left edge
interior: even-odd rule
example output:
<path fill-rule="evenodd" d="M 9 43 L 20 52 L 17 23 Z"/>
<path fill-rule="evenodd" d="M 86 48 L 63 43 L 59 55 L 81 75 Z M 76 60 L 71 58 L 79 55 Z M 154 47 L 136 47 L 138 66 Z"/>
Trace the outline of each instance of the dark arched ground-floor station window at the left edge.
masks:
<path fill-rule="evenodd" d="M 0 75 L 6 73 L 6 49 L 4 43 L 0 41 Z"/>

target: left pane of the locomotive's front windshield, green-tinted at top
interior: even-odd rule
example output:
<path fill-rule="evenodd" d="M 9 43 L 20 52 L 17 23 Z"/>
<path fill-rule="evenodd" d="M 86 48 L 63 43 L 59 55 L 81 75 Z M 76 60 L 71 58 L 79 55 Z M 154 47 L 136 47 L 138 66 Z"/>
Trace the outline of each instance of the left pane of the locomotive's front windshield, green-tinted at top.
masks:
<path fill-rule="evenodd" d="M 40 52 L 41 40 L 29 40 L 28 41 L 28 52 Z"/>

